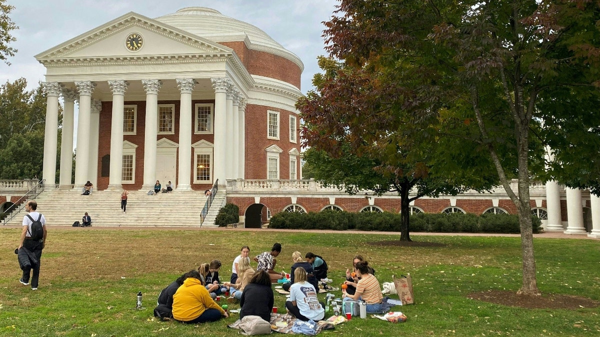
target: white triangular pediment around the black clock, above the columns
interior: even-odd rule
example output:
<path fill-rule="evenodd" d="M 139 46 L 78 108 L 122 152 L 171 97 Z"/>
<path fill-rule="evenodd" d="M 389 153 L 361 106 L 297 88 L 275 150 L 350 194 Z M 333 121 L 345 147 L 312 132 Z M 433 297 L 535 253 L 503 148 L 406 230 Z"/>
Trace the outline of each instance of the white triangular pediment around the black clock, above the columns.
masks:
<path fill-rule="evenodd" d="M 130 34 L 143 38 L 142 47 L 129 50 L 125 41 Z M 91 31 L 35 56 L 38 61 L 56 59 L 161 59 L 185 58 L 192 55 L 223 56 L 232 49 L 205 38 L 166 25 L 149 17 L 130 12 Z"/>

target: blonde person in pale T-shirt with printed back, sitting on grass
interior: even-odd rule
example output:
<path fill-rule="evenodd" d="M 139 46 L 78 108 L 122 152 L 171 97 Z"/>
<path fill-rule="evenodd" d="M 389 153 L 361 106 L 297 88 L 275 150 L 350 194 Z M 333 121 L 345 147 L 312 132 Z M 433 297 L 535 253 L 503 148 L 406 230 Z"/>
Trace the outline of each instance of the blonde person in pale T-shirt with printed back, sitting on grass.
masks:
<path fill-rule="evenodd" d="M 294 271 L 295 283 L 290 287 L 290 298 L 286 309 L 298 320 L 320 321 L 325 317 L 325 305 L 317 299 L 317 290 L 307 281 L 307 273 L 302 267 Z"/>

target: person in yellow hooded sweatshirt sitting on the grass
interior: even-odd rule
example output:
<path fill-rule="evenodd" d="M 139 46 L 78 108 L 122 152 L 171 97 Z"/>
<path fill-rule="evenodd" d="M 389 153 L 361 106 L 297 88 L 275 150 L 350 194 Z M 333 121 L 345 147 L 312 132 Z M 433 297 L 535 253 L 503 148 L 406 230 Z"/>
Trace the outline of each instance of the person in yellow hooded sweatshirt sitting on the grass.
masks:
<path fill-rule="evenodd" d="M 188 278 L 173 295 L 173 318 L 183 323 L 196 324 L 227 318 L 227 312 L 208 294 L 202 276 L 191 270 Z"/>

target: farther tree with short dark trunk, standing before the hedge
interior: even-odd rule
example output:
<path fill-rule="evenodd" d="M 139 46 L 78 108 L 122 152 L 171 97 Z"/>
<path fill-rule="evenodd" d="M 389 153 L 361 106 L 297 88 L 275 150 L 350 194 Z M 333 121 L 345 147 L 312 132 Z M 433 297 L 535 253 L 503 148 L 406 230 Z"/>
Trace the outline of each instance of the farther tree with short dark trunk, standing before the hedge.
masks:
<path fill-rule="evenodd" d="M 323 73 L 314 76 L 316 89 L 296 104 L 304 145 L 310 146 L 305 167 L 317 181 L 349 194 L 366 189 L 400 195 L 400 240 L 410 241 L 412 201 L 484 191 L 497 183 L 491 161 L 475 142 L 439 137 L 437 125 L 418 133 L 394 132 L 416 125 L 413 109 L 388 104 L 396 92 L 378 85 L 382 82 L 364 68 L 324 57 L 319 66 Z M 424 141 L 429 137 L 436 142 Z M 463 166 L 469 170 L 459 169 Z"/>

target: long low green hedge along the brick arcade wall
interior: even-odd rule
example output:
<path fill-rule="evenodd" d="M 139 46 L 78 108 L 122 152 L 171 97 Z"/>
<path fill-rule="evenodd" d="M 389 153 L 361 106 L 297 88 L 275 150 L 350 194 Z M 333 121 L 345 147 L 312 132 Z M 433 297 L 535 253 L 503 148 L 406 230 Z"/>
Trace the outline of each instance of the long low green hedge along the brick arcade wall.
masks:
<path fill-rule="evenodd" d="M 539 233 L 541 223 L 537 216 L 533 216 L 533 233 Z M 400 214 L 397 213 L 281 212 L 271 217 L 269 228 L 400 231 L 400 224 Z M 520 233 L 518 216 L 509 214 L 419 213 L 410 216 L 409 230 L 432 233 Z"/>

